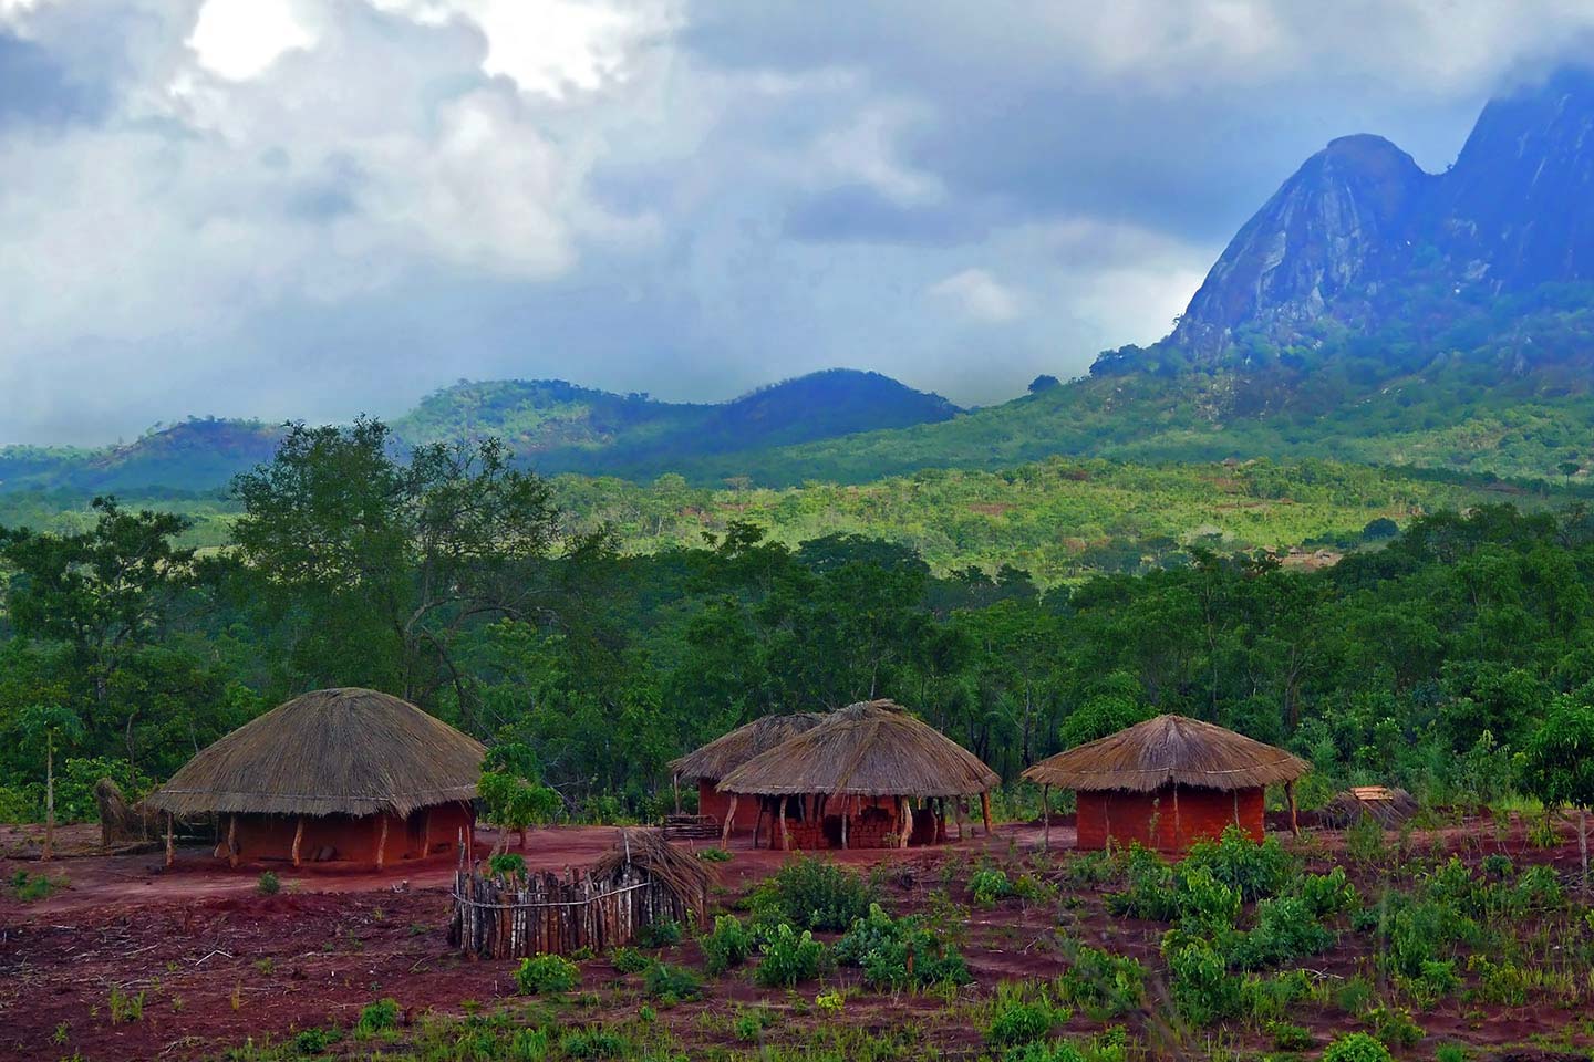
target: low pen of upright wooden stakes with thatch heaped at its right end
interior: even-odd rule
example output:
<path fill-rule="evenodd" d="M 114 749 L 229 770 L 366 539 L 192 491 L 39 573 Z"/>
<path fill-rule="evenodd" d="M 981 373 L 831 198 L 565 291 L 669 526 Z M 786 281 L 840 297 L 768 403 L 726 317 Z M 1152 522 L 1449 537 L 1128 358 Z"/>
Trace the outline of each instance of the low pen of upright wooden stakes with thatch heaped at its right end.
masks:
<path fill-rule="evenodd" d="M 701 923 L 706 911 L 703 865 L 657 830 L 626 830 L 612 853 L 564 877 L 497 877 L 461 855 L 448 943 L 477 959 L 598 952 L 633 943 L 655 922 Z"/>

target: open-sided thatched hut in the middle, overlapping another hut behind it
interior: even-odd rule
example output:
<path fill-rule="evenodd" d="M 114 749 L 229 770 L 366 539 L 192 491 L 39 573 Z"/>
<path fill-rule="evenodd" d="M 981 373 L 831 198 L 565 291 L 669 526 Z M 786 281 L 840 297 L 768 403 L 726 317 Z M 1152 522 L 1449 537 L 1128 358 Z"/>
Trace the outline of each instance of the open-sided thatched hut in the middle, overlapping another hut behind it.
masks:
<path fill-rule="evenodd" d="M 719 790 L 730 793 L 733 809 L 741 796 L 757 798 L 757 822 L 771 817 L 771 844 L 779 828 L 784 849 L 869 849 L 945 841 L 947 801 L 960 815 L 963 798 L 974 795 L 990 833 L 998 782 L 979 756 L 897 704 L 864 701 L 754 756 Z M 915 817 L 913 802 L 929 814 Z"/>

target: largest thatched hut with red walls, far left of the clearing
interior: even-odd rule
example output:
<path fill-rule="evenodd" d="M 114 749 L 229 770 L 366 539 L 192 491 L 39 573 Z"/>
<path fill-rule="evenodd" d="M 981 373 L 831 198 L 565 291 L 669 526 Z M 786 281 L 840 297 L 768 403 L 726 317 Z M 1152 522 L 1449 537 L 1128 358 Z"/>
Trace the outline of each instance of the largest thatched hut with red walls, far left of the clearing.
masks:
<path fill-rule="evenodd" d="M 145 804 L 214 814 L 217 855 L 241 861 L 375 863 L 453 852 L 475 828 L 486 748 L 375 689 L 317 689 L 190 759 Z"/>

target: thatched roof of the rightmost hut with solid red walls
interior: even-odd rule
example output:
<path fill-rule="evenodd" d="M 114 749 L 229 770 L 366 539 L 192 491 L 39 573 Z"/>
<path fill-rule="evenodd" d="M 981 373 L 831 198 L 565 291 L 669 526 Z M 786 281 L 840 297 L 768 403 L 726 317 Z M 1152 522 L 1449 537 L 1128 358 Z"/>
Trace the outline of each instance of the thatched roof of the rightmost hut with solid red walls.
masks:
<path fill-rule="evenodd" d="M 1183 715 L 1159 715 L 1042 759 L 1023 777 L 1062 790 L 1149 793 L 1170 782 L 1250 790 L 1305 772 L 1307 764 L 1283 748 Z"/>

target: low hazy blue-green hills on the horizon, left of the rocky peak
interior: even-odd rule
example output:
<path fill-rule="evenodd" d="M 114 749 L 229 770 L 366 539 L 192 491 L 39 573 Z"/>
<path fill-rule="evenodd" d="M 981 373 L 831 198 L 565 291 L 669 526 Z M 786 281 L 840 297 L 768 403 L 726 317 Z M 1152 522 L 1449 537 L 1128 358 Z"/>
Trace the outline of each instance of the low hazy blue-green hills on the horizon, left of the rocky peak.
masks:
<path fill-rule="evenodd" d="M 827 369 L 725 403 L 669 403 L 564 381 L 459 382 L 392 422 L 402 446 L 499 436 L 539 471 L 657 476 L 706 457 L 948 420 L 961 411 L 880 373 Z M 0 490 L 206 492 L 276 452 L 282 425 L 191 419 L 100 449 L 0 447 Z"/>

